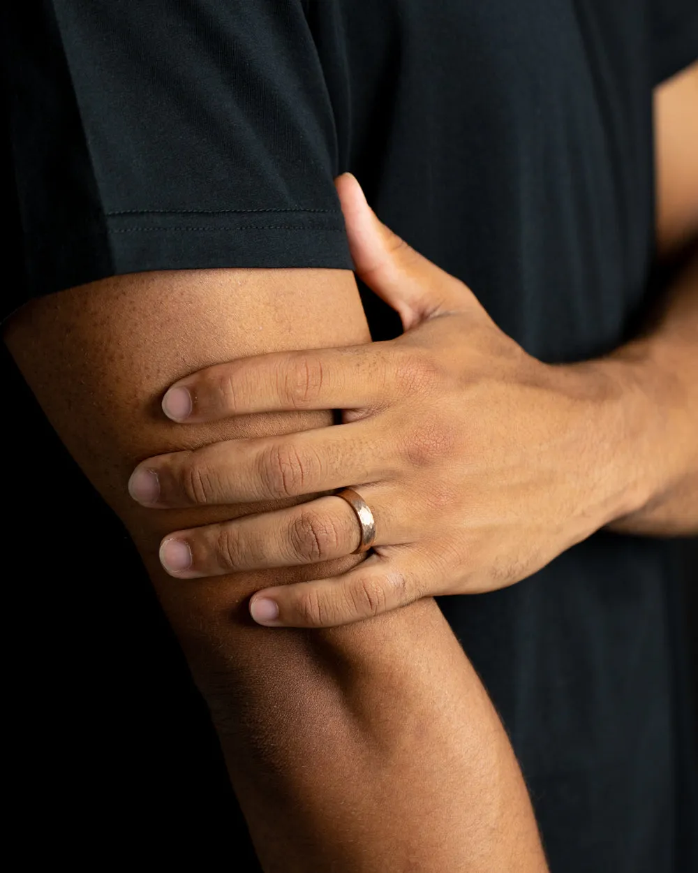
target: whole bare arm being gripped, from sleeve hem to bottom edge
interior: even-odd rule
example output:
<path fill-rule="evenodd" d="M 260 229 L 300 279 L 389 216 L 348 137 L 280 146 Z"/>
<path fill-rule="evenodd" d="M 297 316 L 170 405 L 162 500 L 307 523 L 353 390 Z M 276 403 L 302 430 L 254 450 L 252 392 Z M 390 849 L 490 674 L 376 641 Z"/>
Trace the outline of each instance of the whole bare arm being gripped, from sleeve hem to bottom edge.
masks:
<path fill-rule="evenodd" d="M 111 278 L 24 306 L 5 335 L 139 548 L 213 713 L 265 870 L 544 870 L 508 740 L 435 601 L 346 628 L 253 626 L 251 592 L 356 559 L 175 580 L 157 560 L 164 534 L 268 507 L 154 512 L 127 494 L 145 457 L 329 422 L 325 412 L 284 413 L 183 429 L 160 409 L 182 375 L 368 339 L 352 274 L 315 270 Z"/>

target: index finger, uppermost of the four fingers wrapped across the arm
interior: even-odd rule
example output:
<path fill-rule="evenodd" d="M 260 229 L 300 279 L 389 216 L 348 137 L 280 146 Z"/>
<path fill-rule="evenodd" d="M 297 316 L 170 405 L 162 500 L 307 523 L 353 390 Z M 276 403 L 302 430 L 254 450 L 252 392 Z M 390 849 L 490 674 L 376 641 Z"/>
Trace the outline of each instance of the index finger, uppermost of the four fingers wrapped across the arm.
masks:
<path fill-rule="evenodd" d="M 216 364 L 175 382 L 162 409 L 175 422 L 295 409 L 355 409 L 386 394 L 385 343 L 275 352 Z"/>

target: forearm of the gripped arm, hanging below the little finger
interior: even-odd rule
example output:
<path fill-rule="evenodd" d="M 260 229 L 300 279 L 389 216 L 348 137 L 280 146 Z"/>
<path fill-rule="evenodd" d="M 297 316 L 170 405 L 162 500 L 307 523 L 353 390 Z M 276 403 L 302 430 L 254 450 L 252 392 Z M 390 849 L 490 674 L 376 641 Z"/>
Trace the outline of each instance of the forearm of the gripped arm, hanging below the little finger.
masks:
<path fill-rule="evenodd" d="M 508 740 L 434 601 L 219 632 L 226 663 L 207 659 L 202 687 L 264 870 L 545 869 Z"/>

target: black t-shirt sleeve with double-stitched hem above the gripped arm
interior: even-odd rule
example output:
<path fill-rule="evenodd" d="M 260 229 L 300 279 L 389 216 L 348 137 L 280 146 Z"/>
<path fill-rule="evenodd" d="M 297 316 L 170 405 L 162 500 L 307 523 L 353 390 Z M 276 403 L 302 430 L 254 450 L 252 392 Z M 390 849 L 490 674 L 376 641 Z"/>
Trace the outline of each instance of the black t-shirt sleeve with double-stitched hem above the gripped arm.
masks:
<path fill-rule="evenodd" d="M 352 269 L 303 0 L 12 5 L 24 275 L 3 315 L 127 272 Z"/>

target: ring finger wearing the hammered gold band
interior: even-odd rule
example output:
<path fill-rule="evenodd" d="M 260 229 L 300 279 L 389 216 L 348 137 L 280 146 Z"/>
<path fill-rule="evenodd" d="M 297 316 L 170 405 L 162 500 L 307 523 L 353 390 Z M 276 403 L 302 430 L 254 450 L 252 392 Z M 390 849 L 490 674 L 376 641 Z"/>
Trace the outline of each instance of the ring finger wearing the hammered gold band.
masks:
<path fill-rule="evenodd" d="M 377 532 L 390 541 L 381 491 L 361 489 L 371 506 Z M 276 512 L 171 533 L 161 542 L 160 560 L 169 574 L 180 579 L 297 567 L 343 558 L 358 548 L 360 536 L 352 507 L 346 500 L 328 495 Z"/>

